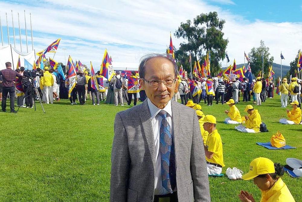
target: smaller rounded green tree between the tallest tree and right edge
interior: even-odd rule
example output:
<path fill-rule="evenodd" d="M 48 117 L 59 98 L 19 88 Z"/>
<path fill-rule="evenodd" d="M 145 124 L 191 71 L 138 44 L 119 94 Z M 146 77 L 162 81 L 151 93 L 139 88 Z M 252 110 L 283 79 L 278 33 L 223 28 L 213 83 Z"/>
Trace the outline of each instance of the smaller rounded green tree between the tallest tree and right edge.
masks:
<path fill-rule="evenodd" d="M 251 49 L 251 52 L 249 52 L 249 58 L 250 58 L 250 66 L 251 71 L 254 75 L 258 75 L 260 71 L 262 71 L 262 51 L 263 51 L 263 69 L 264 69 L 264 75 L 268 74 L 268 67 L 273 64 L 274 57 L 270 57 L 269 48 L 265 46 L 264 41 L 260 41 L 260 46 L 255 48 L 253 47 Z"/>

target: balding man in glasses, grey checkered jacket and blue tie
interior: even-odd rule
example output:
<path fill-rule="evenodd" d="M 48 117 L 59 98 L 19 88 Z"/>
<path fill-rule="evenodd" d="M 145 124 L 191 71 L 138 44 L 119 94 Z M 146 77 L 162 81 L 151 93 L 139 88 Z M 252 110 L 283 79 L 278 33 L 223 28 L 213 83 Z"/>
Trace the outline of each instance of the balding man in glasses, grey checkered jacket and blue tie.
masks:
<path fill-rule="evenodd" d="M 170 55 L 141 59 L 139 82 L 148 99 L 115 116 L 111 202 L 210 201 L 198 117 L 172 100 L 177 71 Z"/>

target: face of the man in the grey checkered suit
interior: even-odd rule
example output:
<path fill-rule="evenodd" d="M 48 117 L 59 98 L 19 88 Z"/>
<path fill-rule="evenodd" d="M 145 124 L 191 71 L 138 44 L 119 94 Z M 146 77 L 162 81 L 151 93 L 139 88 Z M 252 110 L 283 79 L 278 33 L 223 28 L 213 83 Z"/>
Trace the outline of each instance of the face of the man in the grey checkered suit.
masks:
<path fill-rule="evenodd" d="M 146 63 L 145 76 L 146 80 L 166 80 L 175 79 L 174 66 L 171 61 L 166 58 L 151 58 Z M 140 85 L 142 89 L 145 90 L 147 97 L 151 102 L 159 107 L 161 105 L 166 105 L 169 100 L 172 99 L 174 95 L 174 90 L 176 82 L 172 84 L 171 87 L 165 86 L 163 82 L 159 86 L 153 87 L 149 86 L 147 81 L 140 79 Z"/>

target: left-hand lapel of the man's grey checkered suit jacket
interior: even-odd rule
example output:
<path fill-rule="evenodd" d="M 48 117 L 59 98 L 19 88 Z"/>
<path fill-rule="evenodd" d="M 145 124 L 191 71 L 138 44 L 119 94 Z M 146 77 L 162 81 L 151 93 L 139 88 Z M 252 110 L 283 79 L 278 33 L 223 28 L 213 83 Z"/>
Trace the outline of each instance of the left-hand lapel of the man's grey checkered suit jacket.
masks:
<path fill-rule="evenodd" d="M 140 120 L 143 125 L 143 130 L 146 136 L 147 145 L 152 158 L 154 173 L 156 172 L 156 156 L 155 156 L 155 140 L 152 127 L 152 120 L 147 99 L 141 104 Z"/>

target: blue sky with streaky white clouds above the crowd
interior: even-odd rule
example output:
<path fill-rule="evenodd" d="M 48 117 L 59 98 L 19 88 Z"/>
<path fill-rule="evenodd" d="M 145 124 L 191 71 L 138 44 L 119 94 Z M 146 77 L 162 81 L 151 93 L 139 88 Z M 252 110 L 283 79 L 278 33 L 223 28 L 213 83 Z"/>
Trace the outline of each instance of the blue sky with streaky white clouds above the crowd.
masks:
<path fill-rule="evenodd" d="M 34 49 L 45 49 L 62 38 L 55 60 L 63 62 L 70 54 L 74 60 L 99 66 L 107 48 L 114 62 L 138 63 L 148 52 L 165 52 L 169 33 L 181 22 L 198 14 L 217 11 L 226 20 L 223 32 L 229 39 L 227 52 L 231 60 L 243 63 L 243 52 L 257 47 L 260 40 L 270 48 L 275 62 L 280 52 L 289 64 L 302 48 L 302 3 L 299 1 L 93 1 L 39 0 L 0 1 L 0 16 L 5 45 L 7 42 L 5 12 L 8 13 L 10 42 L 13 44 L 11 9 L 13 10 L 16 48 L 20 49 L 18 15 L 20 13 L 22 49 L 26 52 L 24 11 L 31 50 L 29 13 L 32 13 Z M 184 39 L 172 38 L 176 47 Z M 1 39 L 0 39 L 1 40 Z M 1 43 L 0 43 L 1 45 Z M 47 54 L 53 57 L 53 54 Z M 225 61 L 222 61 L 225 66 Z"/>

